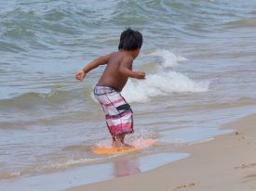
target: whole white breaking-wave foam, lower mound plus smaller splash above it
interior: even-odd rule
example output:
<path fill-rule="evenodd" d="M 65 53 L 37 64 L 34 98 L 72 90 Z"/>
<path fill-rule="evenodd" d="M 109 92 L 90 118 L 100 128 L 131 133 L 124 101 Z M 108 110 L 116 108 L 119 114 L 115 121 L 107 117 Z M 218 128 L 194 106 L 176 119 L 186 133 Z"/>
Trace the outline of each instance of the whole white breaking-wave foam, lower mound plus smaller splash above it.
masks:
<path fill-rule="evenodd" d="M 180 72 L 167 70 L 167 68 L 177 66 L 181 61 L 187 60 L 185 57 L 177 57 L 168 50 L 157 50 L 151 55 L 162 57 L 163 63 L 154 74 L 148 74 L 146 80 L 128 80 L 122 92 L 128 102 L 148 102 L 150 97 L 154 96 L 168 96 L 171 93 L 198 93 L 209 90 L 209 82 L 195 82 Z"/>

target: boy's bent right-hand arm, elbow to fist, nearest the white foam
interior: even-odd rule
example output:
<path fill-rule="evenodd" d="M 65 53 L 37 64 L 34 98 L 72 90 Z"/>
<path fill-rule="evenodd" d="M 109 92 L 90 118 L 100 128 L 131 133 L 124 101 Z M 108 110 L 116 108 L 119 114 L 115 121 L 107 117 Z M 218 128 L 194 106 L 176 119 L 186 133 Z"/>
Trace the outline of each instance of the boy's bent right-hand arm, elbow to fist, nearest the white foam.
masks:
<path fill-rule="evenodd" d="M 132 69 L 132 60 L 125 59 L 119 67 L 119 71 L 130 78 L 137 78 L 137 79 L 145 79 L 145 72 L 144 71 L 133 71 Z"/>

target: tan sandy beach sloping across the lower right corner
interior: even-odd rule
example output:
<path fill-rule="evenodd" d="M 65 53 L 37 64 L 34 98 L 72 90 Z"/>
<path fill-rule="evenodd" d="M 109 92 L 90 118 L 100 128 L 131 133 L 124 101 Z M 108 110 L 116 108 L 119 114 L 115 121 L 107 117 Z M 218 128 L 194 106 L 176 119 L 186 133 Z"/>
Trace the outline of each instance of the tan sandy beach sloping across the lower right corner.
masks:
<path fill-rule="evenodd" d="M 180 151 L 191 157 L 70 191 L 249 191 L 256 190 L 256 114 L 224 124 L 234 129 L 216 139 L 186 146 Z"/>

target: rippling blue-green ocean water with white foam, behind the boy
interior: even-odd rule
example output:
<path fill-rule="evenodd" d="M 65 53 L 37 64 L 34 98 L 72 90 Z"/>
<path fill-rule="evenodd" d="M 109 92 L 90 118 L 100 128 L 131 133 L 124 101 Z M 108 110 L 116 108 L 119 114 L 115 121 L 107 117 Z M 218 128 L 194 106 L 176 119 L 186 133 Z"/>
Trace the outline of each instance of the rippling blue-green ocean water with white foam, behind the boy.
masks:
<path fill-rule="evenodd" d="M 127 27 L 143 35 L 123 90 L 134 111 L 128 143 L 155 138 L 137 157 L 228 133 L 221 124 L 256 111 L 256 2 L 231 0 L 0 1 L 0 188 L 38 174 L 110 162 L 111 144 L 91 92 Z M 15 184 L 14 184 L 15 185 Z"/>

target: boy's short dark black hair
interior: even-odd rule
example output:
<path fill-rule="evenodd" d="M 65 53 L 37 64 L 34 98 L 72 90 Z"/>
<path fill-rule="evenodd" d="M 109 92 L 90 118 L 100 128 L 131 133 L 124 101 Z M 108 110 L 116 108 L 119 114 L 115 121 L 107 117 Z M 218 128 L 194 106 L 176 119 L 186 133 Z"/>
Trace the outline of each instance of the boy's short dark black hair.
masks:
<path fill-rule="evenodd" d="M 133 31 L 128 28 L 126 31 L 121 33 L 118 50 L 136 50 L 141 48 L 142 42 L 143 39 L 141 32 Z"/>

